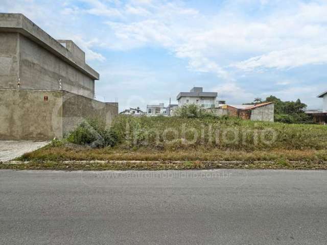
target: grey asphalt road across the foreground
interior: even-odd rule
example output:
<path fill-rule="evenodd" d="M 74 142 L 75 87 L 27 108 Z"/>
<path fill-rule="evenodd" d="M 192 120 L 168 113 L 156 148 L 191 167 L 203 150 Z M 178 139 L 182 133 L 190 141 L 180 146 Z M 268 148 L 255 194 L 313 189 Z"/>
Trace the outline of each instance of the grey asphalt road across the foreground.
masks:
<path fill-rule="evenodd" d="M 0 244 L 327 244 L 327 171 L 0 171 Z"/>

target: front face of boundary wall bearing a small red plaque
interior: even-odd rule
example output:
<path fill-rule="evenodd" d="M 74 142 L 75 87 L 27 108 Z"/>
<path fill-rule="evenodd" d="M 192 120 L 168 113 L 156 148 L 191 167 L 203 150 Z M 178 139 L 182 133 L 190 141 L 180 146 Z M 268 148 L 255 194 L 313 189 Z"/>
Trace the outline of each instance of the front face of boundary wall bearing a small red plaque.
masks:
<path fill-rule="evenodd" d="M 61 105 L 62 91 L 0 89 L 0 139 L 62 137 Z"/>

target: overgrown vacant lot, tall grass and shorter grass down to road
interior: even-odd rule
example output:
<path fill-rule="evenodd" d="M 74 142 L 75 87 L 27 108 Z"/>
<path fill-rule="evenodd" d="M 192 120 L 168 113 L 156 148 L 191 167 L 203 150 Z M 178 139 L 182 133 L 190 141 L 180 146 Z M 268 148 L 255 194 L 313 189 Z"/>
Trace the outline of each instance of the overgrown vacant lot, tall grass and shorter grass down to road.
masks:
<path fill-rule="evenodd" d="M 253 122 L 226 117 L 119 116 L 110 130 L 116 140 L 113 147 L 92 149 L 88 145 L 76 145 L 63 140 L 27 153 L 17 160 L 32 161 L 33 167 L 37 169 L 42 169 L 45 162 L 52 169 L 87 169 L 87 166 L 92 169 L 189 169 L 219 166 L 326 168 L 325 126 Z M 83 160 L 148 162 L 92 163 L 91 166 L 62 162 Z M 151 161 L 162 164 L 153 164 Z M 172 161 L 181 163 L 172 164 Z M 226 166 L 217 161 L 244 161 L 246 164 L 243 162 Z"/>

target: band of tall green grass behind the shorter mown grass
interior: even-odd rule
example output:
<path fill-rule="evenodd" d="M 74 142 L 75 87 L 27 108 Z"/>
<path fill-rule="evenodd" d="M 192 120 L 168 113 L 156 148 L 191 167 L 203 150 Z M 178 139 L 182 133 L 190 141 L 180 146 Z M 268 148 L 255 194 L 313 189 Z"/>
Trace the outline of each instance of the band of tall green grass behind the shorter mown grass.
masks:
<path fill-rule="evenodd" d="M 235 117 L 131 117 L 112 123 L 122 146 L 152 149 L 327 150 L 327 127 Z"/>

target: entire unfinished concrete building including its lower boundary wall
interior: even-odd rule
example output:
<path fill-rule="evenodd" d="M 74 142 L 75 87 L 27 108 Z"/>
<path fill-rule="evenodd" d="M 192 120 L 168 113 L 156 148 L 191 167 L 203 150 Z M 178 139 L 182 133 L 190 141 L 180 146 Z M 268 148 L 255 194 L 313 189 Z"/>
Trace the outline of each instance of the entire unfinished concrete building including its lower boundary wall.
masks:
<path fill-rule="evenodd" d="M 0 14 L 0 139 L 62 138 L 90 117 L 110 124 L 118 104 L 94 100 L 96 80 L 73 41 Z"/>

